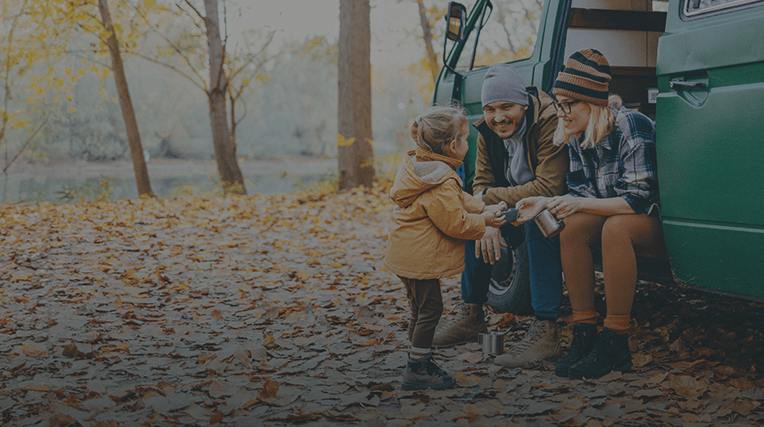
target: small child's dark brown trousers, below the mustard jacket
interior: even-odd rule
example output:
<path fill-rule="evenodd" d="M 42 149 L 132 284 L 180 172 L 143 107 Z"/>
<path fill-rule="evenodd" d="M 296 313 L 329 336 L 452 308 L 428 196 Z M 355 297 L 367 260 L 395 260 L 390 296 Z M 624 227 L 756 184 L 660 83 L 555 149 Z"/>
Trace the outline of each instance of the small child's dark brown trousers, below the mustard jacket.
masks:
<path fill-rule="evenodd" d="M 399 276 L 400 277 L 400 276 Z M 432 347 L 435 327 L 443 313 L 443 298 L 440 294 L 440 280 L 416 280 L 400 277 L 406 286 L 406 294 L 411 307 L 409 340 L 417 348 Z"/>

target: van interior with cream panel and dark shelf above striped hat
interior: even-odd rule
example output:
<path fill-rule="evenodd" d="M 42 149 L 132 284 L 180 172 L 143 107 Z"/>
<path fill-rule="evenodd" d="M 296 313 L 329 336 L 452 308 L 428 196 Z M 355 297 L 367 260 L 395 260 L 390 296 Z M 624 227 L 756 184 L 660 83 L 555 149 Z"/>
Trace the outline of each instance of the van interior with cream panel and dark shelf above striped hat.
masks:
<path fill-rule="evenodd" d="M 626 107 L 655 119 L 658 37 L 666 28 L 667 2 L 651 0 L 574 0 L 568 19 L 565 58 L 586 48 L 610 62 L 611 94 Z"/>

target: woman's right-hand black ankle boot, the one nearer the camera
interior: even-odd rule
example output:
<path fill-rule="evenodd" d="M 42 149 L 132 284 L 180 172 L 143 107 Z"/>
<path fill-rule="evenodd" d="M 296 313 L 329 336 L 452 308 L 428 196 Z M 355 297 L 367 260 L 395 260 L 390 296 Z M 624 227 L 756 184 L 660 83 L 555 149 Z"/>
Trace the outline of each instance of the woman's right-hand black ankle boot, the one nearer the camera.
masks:
<path fill-rule="evenodd" d="M 599 378 L 610 371 L 631 369 L 629 336 L 605 328 L 597 335 L 594 349 L 568 369 L 570 378 Z"/>

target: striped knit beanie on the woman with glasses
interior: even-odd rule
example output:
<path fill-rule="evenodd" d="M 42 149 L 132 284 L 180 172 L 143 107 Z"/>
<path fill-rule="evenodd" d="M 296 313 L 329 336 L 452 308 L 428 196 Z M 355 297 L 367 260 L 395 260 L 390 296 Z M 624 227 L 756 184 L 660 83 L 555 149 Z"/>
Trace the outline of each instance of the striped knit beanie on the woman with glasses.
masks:
<path fill-rule="evenodd" d="M 610 64 L 597 49 L 573 53 L 554 82 L 555 96 L 563 95 L 595 105 L 607 106 Z"/>

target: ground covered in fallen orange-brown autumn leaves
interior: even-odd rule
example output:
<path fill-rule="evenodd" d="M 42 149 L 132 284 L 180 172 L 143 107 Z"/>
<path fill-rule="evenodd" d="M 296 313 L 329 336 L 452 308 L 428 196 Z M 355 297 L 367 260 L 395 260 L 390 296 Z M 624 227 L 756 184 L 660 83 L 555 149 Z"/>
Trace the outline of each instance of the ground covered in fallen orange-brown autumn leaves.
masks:
<path fill-rule="evenodd" d="M 571 381 L 465 345 L 441 352 L 457 389 L 400 391 L 385 194 L 0 207 L 0 424 L 764 423 L 762 305 L 673 285 L 639 286 L 634 373 Z"/>

